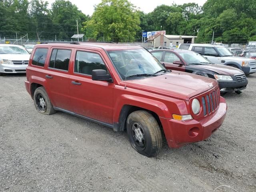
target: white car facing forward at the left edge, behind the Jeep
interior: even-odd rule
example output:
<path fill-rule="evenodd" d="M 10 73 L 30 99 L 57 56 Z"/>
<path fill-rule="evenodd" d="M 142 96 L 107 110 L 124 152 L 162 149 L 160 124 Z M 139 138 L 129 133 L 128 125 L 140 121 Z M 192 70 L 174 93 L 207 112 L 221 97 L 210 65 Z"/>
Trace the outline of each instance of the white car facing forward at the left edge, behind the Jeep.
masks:
<path fill-rule="evenodd" d="M 0 76 L 4 73 L 26 73 L 29 57 L 22 46 L 0 44 Z"/>

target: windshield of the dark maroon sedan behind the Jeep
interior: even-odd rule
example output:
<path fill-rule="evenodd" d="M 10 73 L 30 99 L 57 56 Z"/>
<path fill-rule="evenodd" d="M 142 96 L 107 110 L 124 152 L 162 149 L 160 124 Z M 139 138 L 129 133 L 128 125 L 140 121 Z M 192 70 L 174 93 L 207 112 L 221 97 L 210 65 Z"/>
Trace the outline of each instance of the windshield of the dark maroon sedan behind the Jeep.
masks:
<path fill-rule="evenodd" d="M 196 52 L 180 52 L 179 54 L 188 65 L 207 65 L 211 63 Z"/>

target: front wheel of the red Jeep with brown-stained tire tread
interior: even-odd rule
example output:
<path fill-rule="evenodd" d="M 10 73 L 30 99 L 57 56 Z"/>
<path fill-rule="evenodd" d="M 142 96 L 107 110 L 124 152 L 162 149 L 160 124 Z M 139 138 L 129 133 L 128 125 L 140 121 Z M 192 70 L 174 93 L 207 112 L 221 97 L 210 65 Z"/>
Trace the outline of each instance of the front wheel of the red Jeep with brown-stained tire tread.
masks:
<path fill-rule="evenodd" d="M 162 133 L 158 122 L 147 111 L 132 112 L 126 121 L 128 138 L 132 148 L 147 157 L 154 157 L 162 148 Z"/>

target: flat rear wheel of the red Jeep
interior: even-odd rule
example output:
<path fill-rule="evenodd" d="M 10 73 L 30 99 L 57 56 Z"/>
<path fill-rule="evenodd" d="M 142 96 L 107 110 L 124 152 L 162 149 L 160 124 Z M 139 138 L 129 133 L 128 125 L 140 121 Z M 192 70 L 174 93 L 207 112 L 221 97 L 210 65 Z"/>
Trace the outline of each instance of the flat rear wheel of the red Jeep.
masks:
<path fill-rule="evenodd" d="M 52 103 L 50 102 L 50 99 L 44 87 L 36 88 L 34 92 L 34 104 L 36 106 L 36 110 L 39 113 L 51 115 L 56 112 L 52 106 Z"/>

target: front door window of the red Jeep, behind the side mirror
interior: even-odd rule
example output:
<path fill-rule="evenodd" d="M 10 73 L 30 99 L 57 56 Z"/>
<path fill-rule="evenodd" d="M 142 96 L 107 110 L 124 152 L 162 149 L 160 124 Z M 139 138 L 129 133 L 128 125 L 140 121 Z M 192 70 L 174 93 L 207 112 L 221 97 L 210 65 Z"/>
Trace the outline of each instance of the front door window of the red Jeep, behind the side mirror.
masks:
<path fill-rule="evenodd" d="M 92 70 L 107 70 L 99 54 L 92 52 L 77 51 L 74 72 L 92 75 Z"/>

